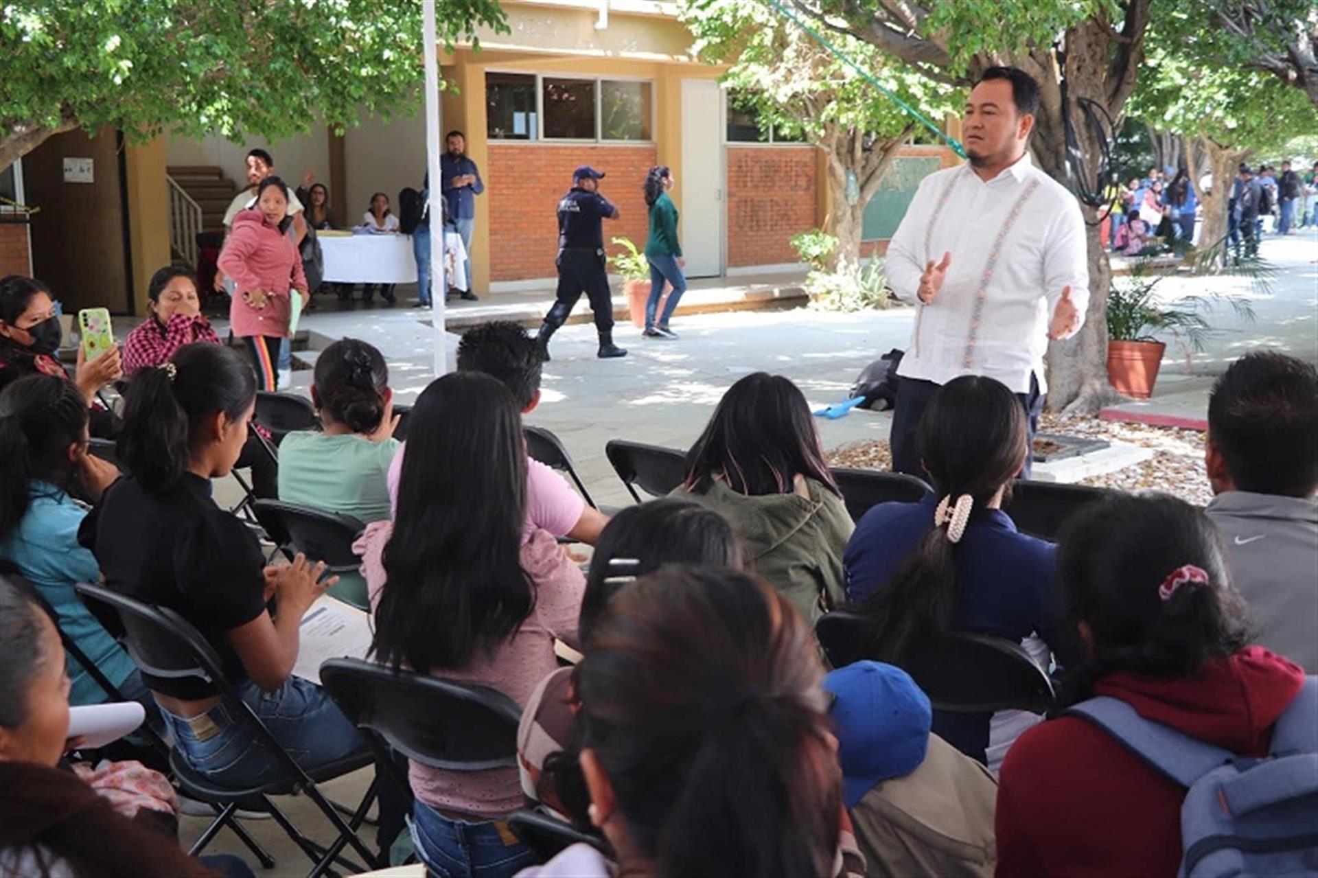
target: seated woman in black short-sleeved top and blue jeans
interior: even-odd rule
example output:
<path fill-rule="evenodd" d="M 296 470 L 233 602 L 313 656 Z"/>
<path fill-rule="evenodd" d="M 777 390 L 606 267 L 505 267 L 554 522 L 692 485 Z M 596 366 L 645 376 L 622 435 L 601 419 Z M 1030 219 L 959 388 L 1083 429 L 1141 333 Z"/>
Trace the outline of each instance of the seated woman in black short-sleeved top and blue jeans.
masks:
<path fill-rule="evenodd" d="M 105 585 L 169 606 L 210 641 L 224 675 L 304 769 L 365 746 L 339 708 L 290 676 L 298 625 L 332 577 L 301 555 L 266 567 L 243 522 L 215 505 L 211 479 L 227 475 L 256 406 L 252 369 L 231 348 L 188 344 L 128 386 L 115 483 L 83 523 L 80 541 Z M 272 616 L 266 601 L 274 599 Z M 265 779 L 273 753 L 239 721 L 236 705 L 199 680 L 142 675 L 188 765 L 227 784 Z"/>

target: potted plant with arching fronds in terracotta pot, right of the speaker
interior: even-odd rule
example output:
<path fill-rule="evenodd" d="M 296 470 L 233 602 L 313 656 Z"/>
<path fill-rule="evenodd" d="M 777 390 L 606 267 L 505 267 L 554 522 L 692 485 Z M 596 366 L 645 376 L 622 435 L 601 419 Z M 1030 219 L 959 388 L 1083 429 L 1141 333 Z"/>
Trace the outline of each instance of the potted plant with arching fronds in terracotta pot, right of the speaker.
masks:
<path fill-rule="evenodd" d="M 1242 274 L 1251 285 L 1267 289 L 1269 270 L 1261 268 Z M 1226 301 L 1238 315 L 1253 320 L 1248 299 L 1239 295 L 1210 293 L 1162 303 L 1156 287 L 1166 277 L 1156 273 L 1151 260 L 1137 260 L 1131 273 L 1114 282 L 1107 294 L 1107 380 L 1118 393 L 1136 399 L 1153 394 L 1166 352 L 1166 344 L 1155 339 L 1155 332 L 1170 335 L 1189 359 L 1191 351 L 1203 351 L 1203 341 L 1213 331 L 1205 311 L 1214 302 Z"/>

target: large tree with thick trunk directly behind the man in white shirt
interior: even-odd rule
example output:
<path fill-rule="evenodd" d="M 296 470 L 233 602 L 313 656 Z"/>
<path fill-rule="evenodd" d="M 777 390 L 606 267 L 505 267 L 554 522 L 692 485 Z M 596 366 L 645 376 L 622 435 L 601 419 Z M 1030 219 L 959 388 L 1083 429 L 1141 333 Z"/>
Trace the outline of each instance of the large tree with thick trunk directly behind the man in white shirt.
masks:
<path fill-rule="evenodd" d="M 1031 138 L 1036 163 L 1073 189 L 1077 179 L 1089 189 L 1106 183 L 1098 179 L 1102 145 L 1083 108 L 1101 120 L 1120 120 L 1144 61 L 1152 0 L 782 1 L 821 17 L 836 33 L 870 42 L 936 82 L 969 84 L 994 63 L 1025 70 L 1043 92 Z M 1072 167 L 1068 119 L 1077 146 Z M 1093 413 L 1115 398 L 1107 382 L 1103 318 L 1111 268 L 1098 227 L 1102 208 L 1082 210 L 1090 221 L 1089 311 L 1078 336 L 1052 345 L 1048 405 Z"/>

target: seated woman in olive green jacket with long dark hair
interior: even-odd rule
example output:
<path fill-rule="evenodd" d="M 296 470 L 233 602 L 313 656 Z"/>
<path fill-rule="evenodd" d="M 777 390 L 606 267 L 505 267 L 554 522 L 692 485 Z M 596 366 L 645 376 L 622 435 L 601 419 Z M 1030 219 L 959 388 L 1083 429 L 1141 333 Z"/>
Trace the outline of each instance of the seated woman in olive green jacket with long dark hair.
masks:
<path fill-rule="evenodd" d="M 844 602 L 851 518 L 805 397 L 787 378 L 755 372 L 729 388 L 675 493 L 721 513 L 742 538 L 747 566 L 811 624 Z"/>

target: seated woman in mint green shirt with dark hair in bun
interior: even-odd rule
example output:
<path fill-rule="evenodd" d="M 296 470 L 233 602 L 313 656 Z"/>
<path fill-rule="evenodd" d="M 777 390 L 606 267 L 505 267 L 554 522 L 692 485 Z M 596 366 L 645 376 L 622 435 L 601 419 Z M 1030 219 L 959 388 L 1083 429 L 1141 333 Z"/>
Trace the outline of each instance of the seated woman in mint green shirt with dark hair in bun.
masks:
<path fill-rule="evenodd" d="M 290 432 L 279 444 L 279 500 L 361 523 L 389 518 L 389 464 L 394 439 L 394 393 L 389 366 L 373 345 L 335 341 L 316 359 L 311 402 L 320 431 Z M 365 609 L 366 581 L 340 576 L 335 597 Z"/>

